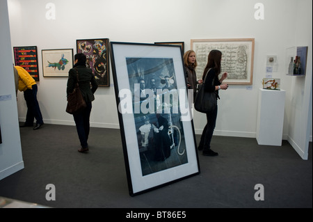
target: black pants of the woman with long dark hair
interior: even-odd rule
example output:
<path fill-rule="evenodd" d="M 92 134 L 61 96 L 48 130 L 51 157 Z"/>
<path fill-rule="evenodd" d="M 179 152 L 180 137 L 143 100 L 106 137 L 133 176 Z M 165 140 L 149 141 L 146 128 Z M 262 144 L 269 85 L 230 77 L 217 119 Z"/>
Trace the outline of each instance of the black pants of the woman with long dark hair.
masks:
<path fill-rule="evenodd" d="M 216 126 L 216 118 L 217 118 L 218 108 L 210 113 L 207 113 L 207 125 L 205 125 L 202 135 L 200 146 L 203 145 L 203 150 L 210 150 L 211 149 L 211 139 L 213 136 L 213 132 Z"/>

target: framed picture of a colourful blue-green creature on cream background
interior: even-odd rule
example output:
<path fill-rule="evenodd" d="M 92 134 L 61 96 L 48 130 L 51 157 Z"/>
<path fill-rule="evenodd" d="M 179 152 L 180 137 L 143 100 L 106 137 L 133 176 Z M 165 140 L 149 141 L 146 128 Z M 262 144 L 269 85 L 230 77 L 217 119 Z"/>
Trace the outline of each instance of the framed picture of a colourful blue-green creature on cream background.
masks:
<path fill-rule="evenodd" d="M 43 77 L 68 77 L 73 65 L 73 49 L 42 49 Z"/>

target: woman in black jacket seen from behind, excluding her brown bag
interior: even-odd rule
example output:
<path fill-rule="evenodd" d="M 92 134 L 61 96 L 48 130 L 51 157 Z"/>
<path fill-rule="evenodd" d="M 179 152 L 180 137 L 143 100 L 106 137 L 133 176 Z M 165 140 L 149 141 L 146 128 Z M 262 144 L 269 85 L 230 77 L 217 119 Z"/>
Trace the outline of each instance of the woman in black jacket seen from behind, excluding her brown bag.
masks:
<path fill-rule="evenodd" d="M 74 113 L 73 117 L 79 141 L 81 142 L 81 148 L 79 148 L 78 151 L 88 152 L 89 149 L 87 141 L 90 129 L 91 102 L 95 100 L 95 96 L 93 94 L 97 90 L 98 84 L 95 80 L 93 71 L 90 68 L 86 68 L 86 56 L 82 53 L 75 54 L 74 56 L 74 66 L 70 69 L 67 79 L 67 96 L 73 92 L 75 85 L 77 84 L 77 72 L 79 76 L 79 88 L 87 106 L 82 111 Z"/>

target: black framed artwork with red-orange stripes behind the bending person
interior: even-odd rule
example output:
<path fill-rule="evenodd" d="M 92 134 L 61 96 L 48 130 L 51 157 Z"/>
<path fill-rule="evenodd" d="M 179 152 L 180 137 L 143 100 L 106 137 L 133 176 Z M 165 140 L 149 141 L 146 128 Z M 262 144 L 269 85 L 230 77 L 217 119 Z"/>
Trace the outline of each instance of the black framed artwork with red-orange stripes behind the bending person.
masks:
<path fill-rule="evenodd" d="M 37 47 L 13 47 L 13 53 L 15 65 L 24 68 L 35 81 L 39 81 Z"/>

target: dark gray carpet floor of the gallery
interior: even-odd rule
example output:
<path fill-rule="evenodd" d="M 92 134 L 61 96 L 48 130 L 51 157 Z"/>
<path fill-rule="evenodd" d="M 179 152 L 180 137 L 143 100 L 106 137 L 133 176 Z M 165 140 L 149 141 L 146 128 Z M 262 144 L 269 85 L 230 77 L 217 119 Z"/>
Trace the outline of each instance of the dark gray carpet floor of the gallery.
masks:
<path fill-rule="evenodd" d="M 214 136 L 219 155 L 198 151 L 199 175 L 131 197 L 119 129 L 91 128 L 88 154 L 77 152 L 74 126 L 20 134 L 25 168 L 0 180 L 6 198 L 58 208 L 312 208 L 312 143 L 303 160 L 287 141 L 277 147 Z M 46 200 L 47 184 L 56 200 Z M 255 200 L 255 184 L 263 184 L 264 200 Z"/>

